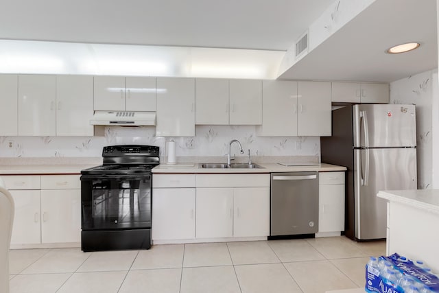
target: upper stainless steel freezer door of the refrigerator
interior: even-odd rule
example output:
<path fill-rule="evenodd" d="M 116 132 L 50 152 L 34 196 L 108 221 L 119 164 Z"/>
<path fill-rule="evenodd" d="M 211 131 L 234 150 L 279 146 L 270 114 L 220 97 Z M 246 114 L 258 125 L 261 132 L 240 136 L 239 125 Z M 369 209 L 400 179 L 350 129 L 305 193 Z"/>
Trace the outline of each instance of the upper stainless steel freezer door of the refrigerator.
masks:
<path fill-rule="evenodd" d="M 414 105 L 360 104 L 353 106 L 355 148 L 416 146 Z"/>

